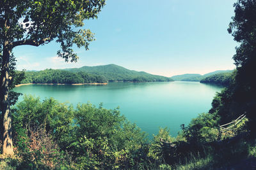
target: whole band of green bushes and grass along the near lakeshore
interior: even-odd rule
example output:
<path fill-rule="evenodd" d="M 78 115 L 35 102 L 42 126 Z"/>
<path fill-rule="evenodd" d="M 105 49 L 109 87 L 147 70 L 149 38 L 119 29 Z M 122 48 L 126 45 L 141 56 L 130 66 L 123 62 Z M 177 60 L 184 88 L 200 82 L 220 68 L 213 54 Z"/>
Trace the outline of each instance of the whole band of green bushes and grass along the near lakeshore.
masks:
<path fill-rule="evenodd" d="M 202 113 L 187 127 L 182 125 L 177 138 L 165 128 L 148 141 L 118 108 L 106 110 L 101 104 L 74 108 L 52 98 L 24 96 L 12 111 L 15 157 L 2 159 L 3 168 L 208 169 L 256 153 L 246 118 L 232 133 L 224 133 L 218 115 Z M 236 135 L 246 138 L 234 139 Z"/>

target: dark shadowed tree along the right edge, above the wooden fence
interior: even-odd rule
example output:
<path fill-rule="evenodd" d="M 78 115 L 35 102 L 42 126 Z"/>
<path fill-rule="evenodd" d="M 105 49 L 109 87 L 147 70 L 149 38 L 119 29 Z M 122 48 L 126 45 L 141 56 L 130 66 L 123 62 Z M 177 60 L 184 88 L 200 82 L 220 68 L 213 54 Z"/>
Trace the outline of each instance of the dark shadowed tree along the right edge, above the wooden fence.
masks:
<path fill-rule="evenodd" d="M 228 32 L 240 43 L 233 59 L 237 66 L 236 84 L 233 90 L 233 103 L 250 120 L 250 130 L 255 132 L 256 123 L 256 1 L 238 0 L 234 4 L 235 16 L 232 17 Z"/>

